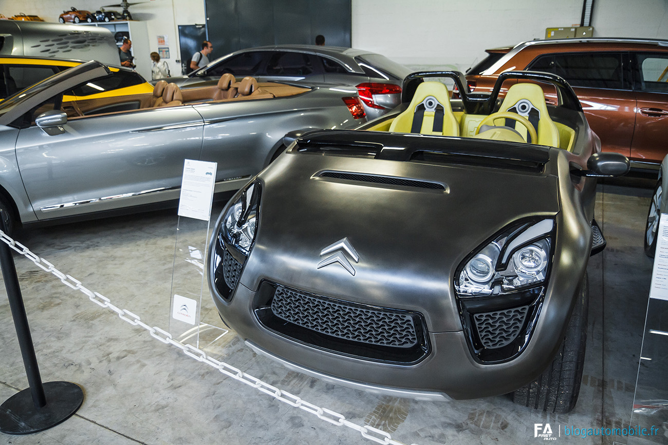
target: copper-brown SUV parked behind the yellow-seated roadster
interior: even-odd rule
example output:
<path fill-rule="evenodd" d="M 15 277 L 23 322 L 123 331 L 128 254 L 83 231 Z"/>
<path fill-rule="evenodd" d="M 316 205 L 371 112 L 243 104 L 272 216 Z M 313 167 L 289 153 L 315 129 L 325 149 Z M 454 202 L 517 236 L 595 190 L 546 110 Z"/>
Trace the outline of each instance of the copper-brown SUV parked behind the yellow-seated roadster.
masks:
<path fill-rule="evenodd" d="M 534 40 L 487 53 L 466 72 L 472 91 L 491 91 L 504 71 L 556 74 L 573 87 L 603 151 L 622 153 L 635 168 L 659 168 L 668 153 L 668 41 Z"/>

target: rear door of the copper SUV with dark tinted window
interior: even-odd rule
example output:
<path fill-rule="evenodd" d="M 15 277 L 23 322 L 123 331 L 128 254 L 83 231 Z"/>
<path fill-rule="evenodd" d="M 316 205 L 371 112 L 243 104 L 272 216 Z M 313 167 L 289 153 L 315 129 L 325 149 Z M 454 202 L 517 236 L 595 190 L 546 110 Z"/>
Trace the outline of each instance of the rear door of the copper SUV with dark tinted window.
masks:
<path fill-rule="evenodd" d="M 603 151 L 631 155 L 635 92 L 628 53 L 555 53 L 536 57 L 530 71 L 553 73 L 573 87 Z"/>

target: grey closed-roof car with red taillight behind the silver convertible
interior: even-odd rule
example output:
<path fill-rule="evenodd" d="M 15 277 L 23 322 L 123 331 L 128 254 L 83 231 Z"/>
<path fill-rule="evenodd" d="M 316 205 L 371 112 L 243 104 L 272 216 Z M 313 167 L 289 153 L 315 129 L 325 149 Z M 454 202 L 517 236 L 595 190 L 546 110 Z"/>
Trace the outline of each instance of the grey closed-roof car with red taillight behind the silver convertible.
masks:
<path fill-rule="evenodd" d="M 188 75 L 172 77 L 182 88 L 220 75 L 252 75 L 259 81 L 325 82 L 356 87 L 369 119 L 401 103 L 401 82 L 411 71 L 384 55 L 345 47 L 274 45 L 224 55 Z"/>

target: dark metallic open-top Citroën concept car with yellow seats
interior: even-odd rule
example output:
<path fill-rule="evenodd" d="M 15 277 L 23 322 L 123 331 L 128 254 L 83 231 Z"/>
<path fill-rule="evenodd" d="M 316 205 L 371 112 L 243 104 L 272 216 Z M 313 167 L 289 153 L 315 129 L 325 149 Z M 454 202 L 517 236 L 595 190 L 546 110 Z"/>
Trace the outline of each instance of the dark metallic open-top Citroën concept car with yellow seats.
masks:
<path fill-rule="evenodd" d="M 568 412 L 587 262 L 605 247 L 596 177 L 629 161 L 600 152 L 560 77 L 504 73 L 490 95 L 465 85 L 413 73 L 402 105 L 359 130 L 287 135 L 216 223 L 210 290 L 248 346 L 293 370 Z"/>

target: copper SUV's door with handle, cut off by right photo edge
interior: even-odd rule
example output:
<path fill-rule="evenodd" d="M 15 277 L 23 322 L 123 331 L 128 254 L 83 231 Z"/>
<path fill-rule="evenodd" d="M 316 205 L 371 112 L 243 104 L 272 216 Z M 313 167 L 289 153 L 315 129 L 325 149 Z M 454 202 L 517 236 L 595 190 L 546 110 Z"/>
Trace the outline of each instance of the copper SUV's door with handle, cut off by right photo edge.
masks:
<path fill-rule="evenodd" d="M 668 53 L 633 55 L 636 117 L 631 159 L 660 163 L 668 153 Z"/>

